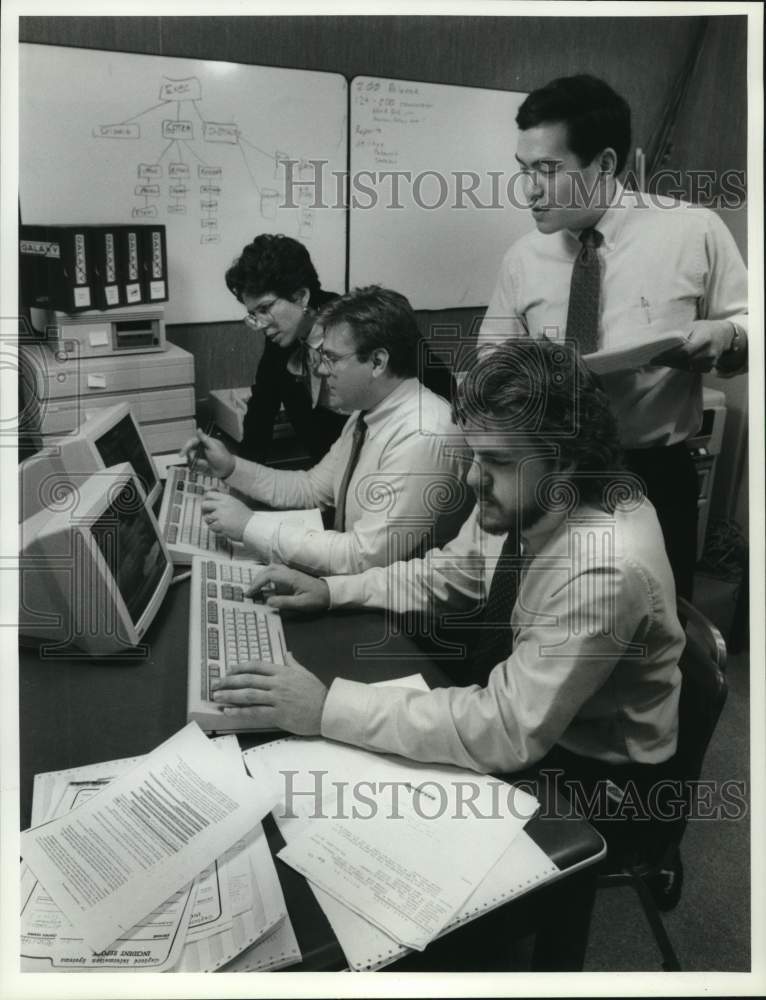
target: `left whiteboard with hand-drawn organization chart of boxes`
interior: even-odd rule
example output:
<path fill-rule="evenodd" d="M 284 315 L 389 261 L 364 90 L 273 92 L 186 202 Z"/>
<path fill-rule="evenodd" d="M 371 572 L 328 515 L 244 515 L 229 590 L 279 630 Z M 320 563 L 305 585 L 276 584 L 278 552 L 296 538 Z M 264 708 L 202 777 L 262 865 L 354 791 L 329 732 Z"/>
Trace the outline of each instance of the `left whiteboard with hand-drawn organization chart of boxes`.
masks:
<path fill-rule="evenodd" d="M 335 73 L 22 44 L 22 221 L 164 223 L 170 323 L 242 315 L 224 272 L 259 233 L 341 291 L 347 212 L 311 161 L 346 170 L 347 99 Z"/>

